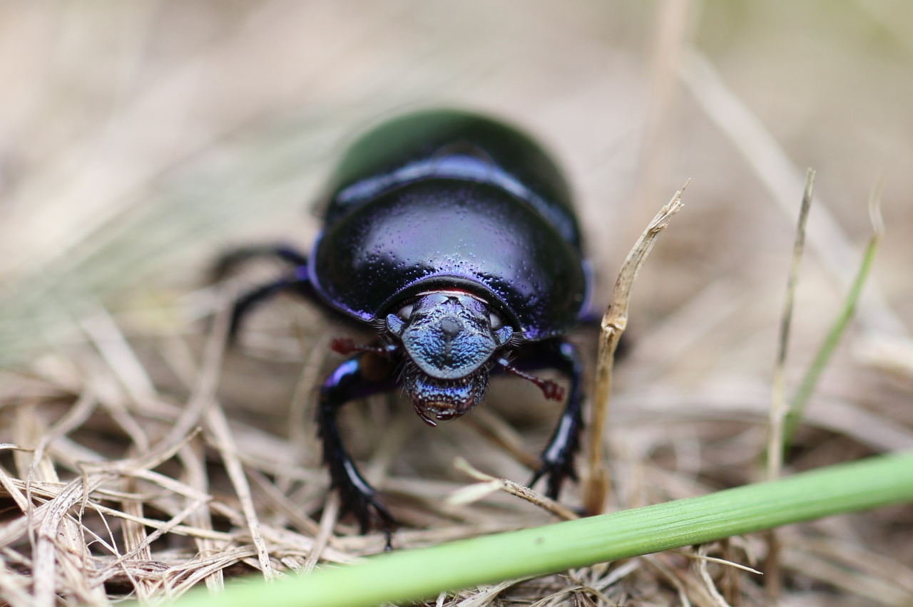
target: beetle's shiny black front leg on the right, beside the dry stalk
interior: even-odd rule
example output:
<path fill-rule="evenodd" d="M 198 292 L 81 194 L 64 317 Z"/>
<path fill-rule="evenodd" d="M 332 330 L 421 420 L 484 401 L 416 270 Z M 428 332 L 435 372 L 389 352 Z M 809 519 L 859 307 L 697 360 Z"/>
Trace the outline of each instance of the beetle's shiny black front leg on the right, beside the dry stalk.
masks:
<path fill-rule="evenodd" d="M 565 478 L 577 479 L 574 458 L 580 449 L 583 427 L 583 361 L 576 346 L 563 339 L 530 344 L 519 351 L 513 365 L 522 369 L 554 368 L 571 378 L 571 389 L 558 426 L 540 456 L 540 467 L 532 475 L 530 487 L 540 478 L 546 480 L 546 495 L 558 499 Z"/>

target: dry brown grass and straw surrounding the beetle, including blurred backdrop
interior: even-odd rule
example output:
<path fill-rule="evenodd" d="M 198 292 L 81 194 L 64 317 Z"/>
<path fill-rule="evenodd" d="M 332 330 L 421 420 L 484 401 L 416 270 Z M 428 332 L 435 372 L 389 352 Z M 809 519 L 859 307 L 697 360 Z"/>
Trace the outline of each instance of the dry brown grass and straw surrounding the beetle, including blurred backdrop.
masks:
<path fill-rule="evenodd" d="M 805 166 L 820 198 L 788 393 L 855 271 L 880 172 L 887 236 L 784 473 L 913 448 L 911 39 L 901 0 L 0 5 L 0 596 L 151 602 L 383 549 L 333 525 L 311 422 L 344 330 L 282 299 L 226 348 L 225 302 L 278 268 L 220 287 L 205 273 L 229 245 L 306 248 L 319 221 L 303 210 L 345 142 L 409 108 L 482 109 L 553 150 L 602 304 L 692 178 L 635 287 L 612 509 L 761 478 Z M 594 338 L 575 336 L 590 360 Z M 404 549 L 553 520 L 503 492 L 447 497 L 471 481 L 457 456 L 527 479 L 556 415 L 505 379 L 444 427 L 399 395 L 348 406 L 343 425 Z M 913 604 L 909 506 L 779 540 L 784 605 Z M 701 556 L 762 568 L 766 550 L 733 538 L 436 603 L 761 605 L 761 576 Z"/>

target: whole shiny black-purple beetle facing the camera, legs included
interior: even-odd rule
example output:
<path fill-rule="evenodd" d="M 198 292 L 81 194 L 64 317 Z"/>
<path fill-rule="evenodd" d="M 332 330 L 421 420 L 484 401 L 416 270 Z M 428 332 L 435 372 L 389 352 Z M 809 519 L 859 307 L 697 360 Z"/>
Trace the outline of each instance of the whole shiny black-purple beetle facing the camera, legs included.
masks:
<path fill-rule="evenodd" d="M 362 478 L 336 422 L 347 402 L 401 387 L 430 426 L 465 415 L 489 377 L 512 374 L 562 400 L 557 384 L 528 374 L 552 368 L 570 380 L 561 418 L 542 451 L 540 478 L 557 499 L 582 428 L 582 359 L 566 339 L 586 314 L 592 272 L 560 170 L 530 137 L 460 110 L 394 118 L 345 153 L 324 201 L 309 255 L 285 246 L 227 253 L 216 273 L 274 256 L 289 273 L 236 300 L 234 335 L 256 305 L 297 293 L 370 328 L 373 345 L 334 340 L 348 358 L 320 386 L 323 460 L 342 511 L 362 533 L 394 519 Z"/>

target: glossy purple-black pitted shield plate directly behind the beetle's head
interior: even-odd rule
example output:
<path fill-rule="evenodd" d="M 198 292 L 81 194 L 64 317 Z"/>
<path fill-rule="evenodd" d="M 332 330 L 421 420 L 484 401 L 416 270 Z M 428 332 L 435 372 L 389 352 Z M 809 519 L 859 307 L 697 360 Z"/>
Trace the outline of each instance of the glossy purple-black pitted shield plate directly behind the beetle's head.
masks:
<path fill-rule="evenodd" d="M 504 190 L 457 180 L 389 191 L 328 226 L 309 278 L 344 314 L 372 322 L 420 293 L 476 293 L 525 339 L 566 333 L 586 298 L 581 258 L 540 213 Z"/>

